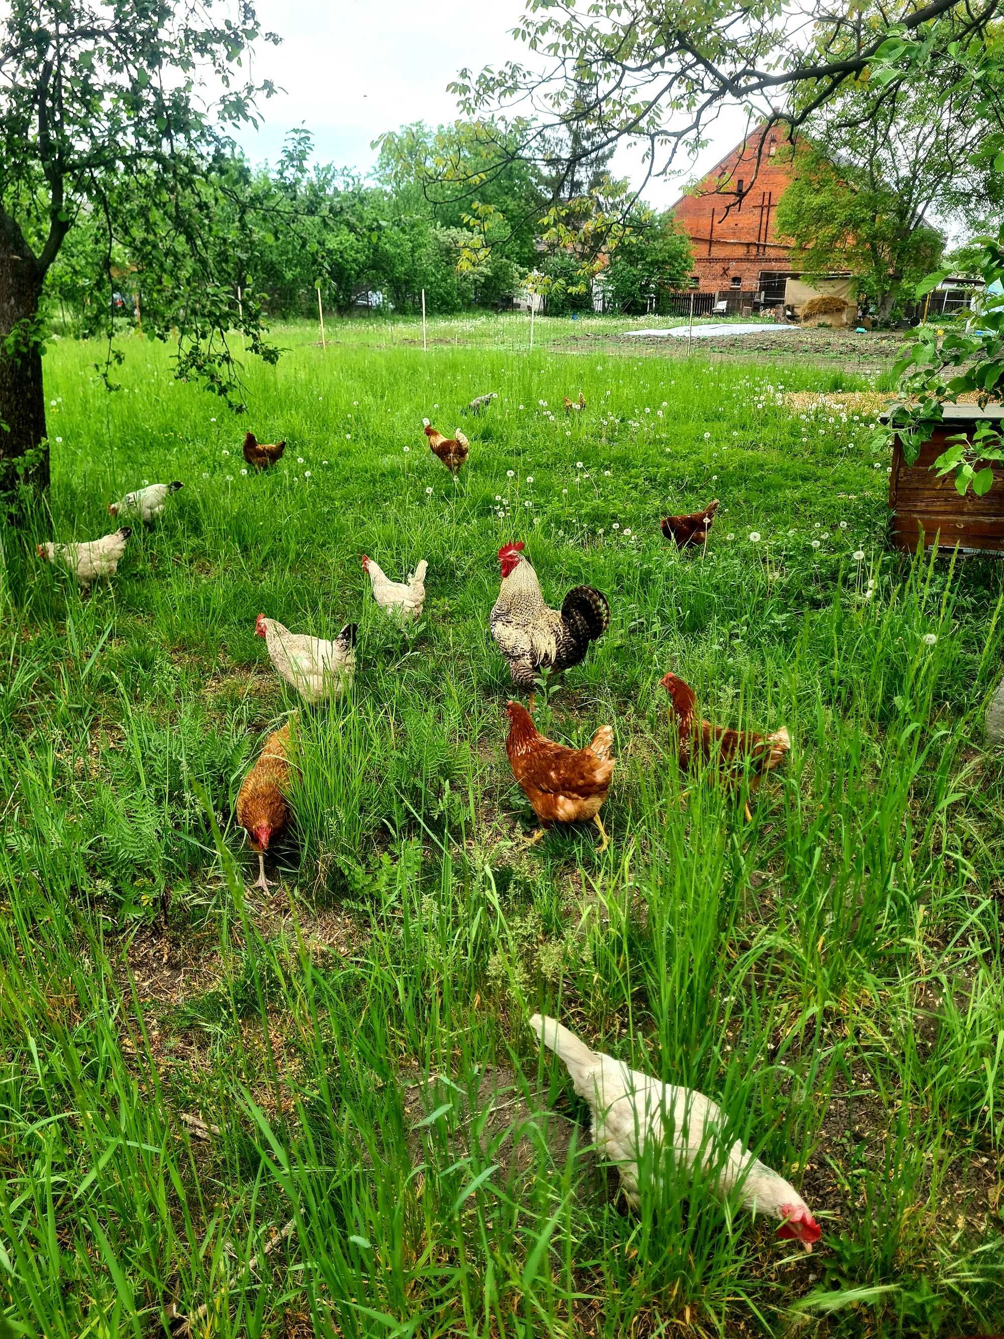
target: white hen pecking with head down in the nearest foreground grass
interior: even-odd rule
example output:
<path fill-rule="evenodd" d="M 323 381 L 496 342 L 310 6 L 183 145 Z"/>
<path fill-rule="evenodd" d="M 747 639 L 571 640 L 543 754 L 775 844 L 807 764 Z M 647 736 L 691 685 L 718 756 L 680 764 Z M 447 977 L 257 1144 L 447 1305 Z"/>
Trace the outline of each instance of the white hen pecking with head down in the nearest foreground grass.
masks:
<path fill-rule="evenodd" d="M 564 1062 L 576 1093 L 589 1105 L 598 1152 L 617 1164 L 625 1198 L 641 1202 L 639 1158 L 672 1139 L 673 1162 L 681 1172 L 695 1165 L 714 1178 L 720 1194 L 738 1190 L 752 1213 L 780 1218 L 778 1236 L 798 1241 L 806 1252 L 822 1236 L 809 1205 L 783 1176 L 748 1153 L 740 1139 L 728 1145 L 722 1109 L 693 1089 L 675 1087 L 640 1070 L 631 1070 L 601 1051 L 590 1051 L 574 1032 L 553 1018 L 534 1014 L 530 1027 Z M 656 1162 L 657 1168 L 664 1164 Z"/>

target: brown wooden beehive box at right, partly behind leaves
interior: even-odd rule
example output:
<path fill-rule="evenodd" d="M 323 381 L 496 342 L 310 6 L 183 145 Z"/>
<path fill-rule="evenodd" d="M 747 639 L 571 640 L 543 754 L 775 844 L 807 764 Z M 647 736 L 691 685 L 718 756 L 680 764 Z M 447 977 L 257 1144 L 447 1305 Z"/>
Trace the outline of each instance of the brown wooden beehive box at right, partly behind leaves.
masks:
<path fill-rule="evenodd" d="M 993 487 L 977 498 L 972 489 L 965 497 L 956 490 L 954 473 L 938 478 L 930 469 L 954 443 L 950 437 L 973 437 L 977 420 L 1004 426 L 1004 406 L 945 404 L 944 418 L 930 441 L 921 447 L 913 465 L 904 458 L 900 439 L 893 447 L 889 478 L 889 506 L 893 511 L 892 542 L 913 553 L 922 537 L 924 546 L 958 546 L 964 553 L 1004 553 L 1004 465 L 993 466 Z"/>

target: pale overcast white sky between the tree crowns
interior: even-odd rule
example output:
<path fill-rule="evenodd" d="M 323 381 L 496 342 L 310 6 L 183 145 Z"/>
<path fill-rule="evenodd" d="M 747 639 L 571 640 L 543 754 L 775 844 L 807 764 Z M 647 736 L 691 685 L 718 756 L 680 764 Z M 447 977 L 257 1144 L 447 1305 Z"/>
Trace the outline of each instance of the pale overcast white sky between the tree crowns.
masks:
<path fill-rule="evenodd" d="M 446 86 L 461 68 L 526 59 L 509 35 L 522 0 L 258 0 L 257 11 L 282 44 L 260 46 L 254 76 L 284 91 L 262 102 L 262 129 L 240 137 L 253 162 L 274 161 L 285 133 L 303 123 L 319 161 L 367 173 L 384 130 L 458 115 Z M 697 167 L 718 162 L 743 129 L 740 112 L 726 112 Z M 640 157 L 620 154 L 613 167 L 641 179 Z M 657 182 L 645 198 L 664 208 L 680 193 L 680 179 Z"/>

